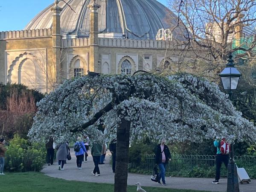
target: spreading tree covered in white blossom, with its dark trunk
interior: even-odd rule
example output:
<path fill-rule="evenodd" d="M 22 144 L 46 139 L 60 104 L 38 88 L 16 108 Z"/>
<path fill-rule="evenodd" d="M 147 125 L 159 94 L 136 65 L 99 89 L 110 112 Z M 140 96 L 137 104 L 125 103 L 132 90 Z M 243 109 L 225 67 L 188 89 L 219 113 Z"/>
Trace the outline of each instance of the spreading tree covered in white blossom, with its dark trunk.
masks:
<path fill-rule="evenodd" d="M 65 81 L 38 107 L 29 131 L 32 140 L 54 137 L 61 143 L 79 134 L 94 140 L 116 138 L 115 192 L 126 192 L 128 147 L 134 139 L 256 140 L 253 123 L 236 111 L 216 84 L 186 74 L 83 76 Z"/>

